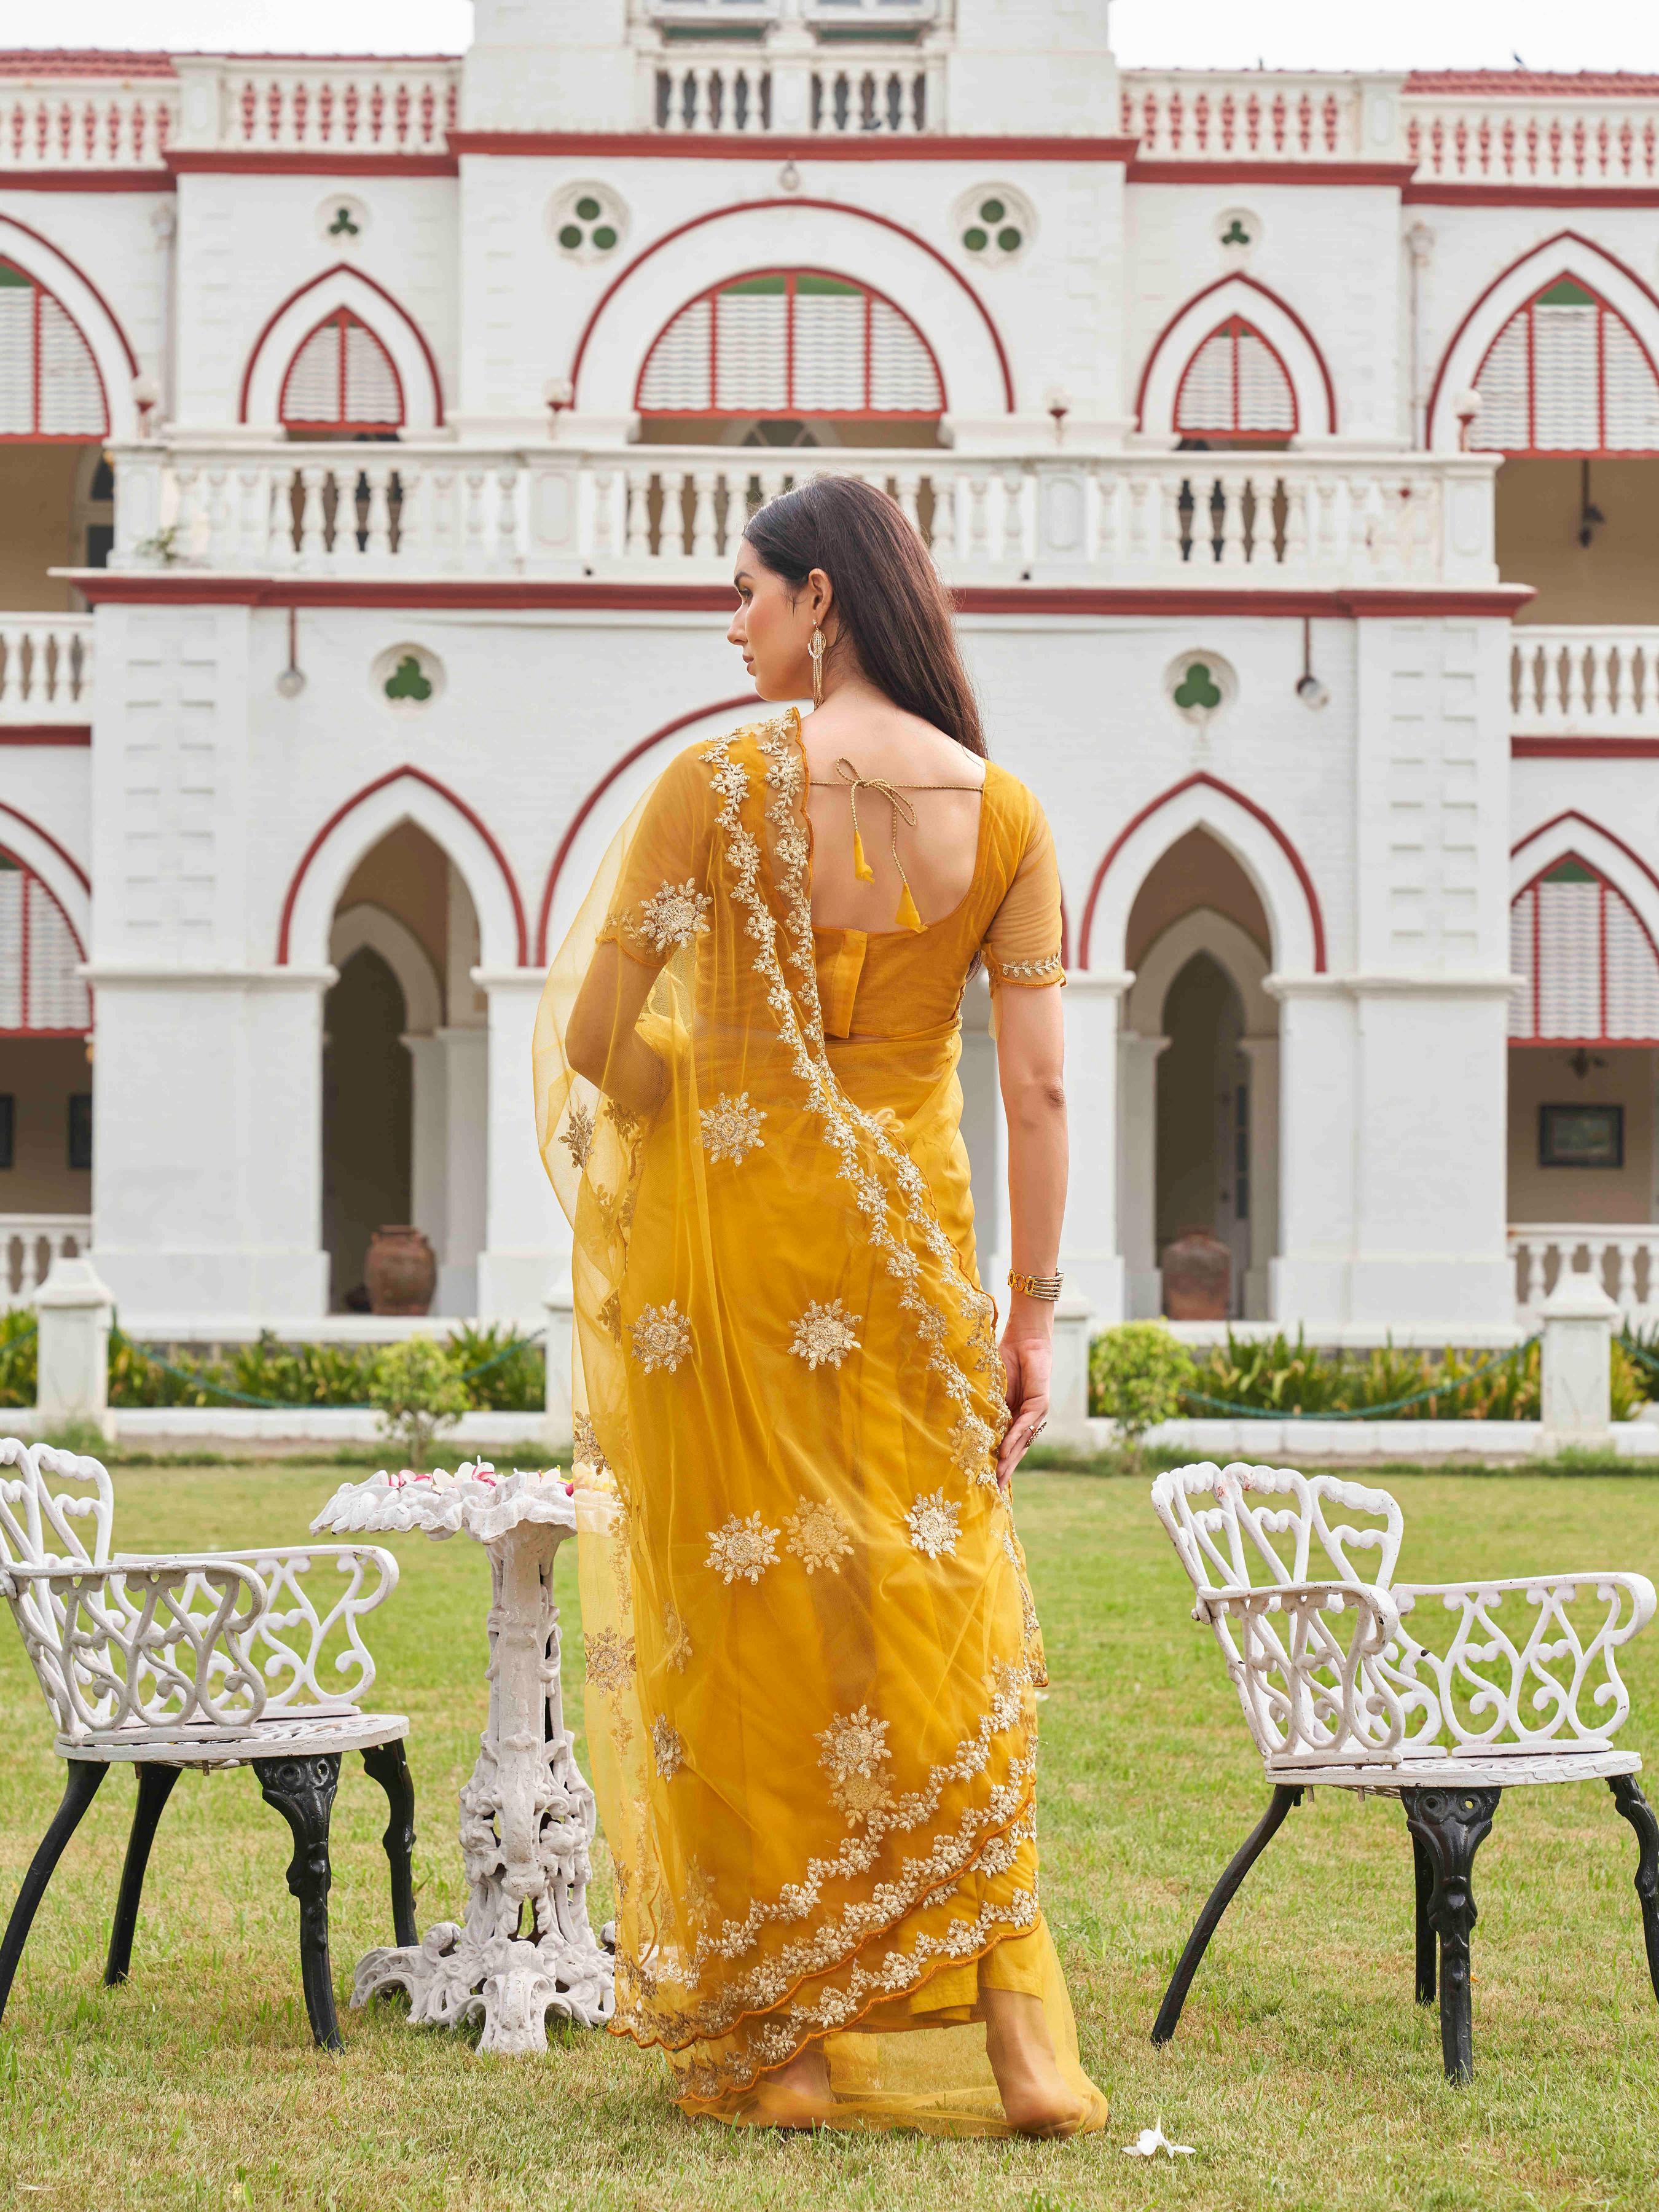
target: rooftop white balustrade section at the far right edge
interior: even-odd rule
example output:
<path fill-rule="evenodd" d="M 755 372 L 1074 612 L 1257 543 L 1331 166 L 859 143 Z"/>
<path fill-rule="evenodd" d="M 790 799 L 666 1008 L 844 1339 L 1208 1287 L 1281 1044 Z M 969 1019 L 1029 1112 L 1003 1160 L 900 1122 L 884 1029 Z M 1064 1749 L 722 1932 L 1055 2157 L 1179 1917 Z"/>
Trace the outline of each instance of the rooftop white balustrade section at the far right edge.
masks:
<path fill-rule="evenodd" d="M 1655 184 L 1659 102 L 1436 100 L 1407 91 L 1405 153 L 1418 177 L 1438 184 Z"/>

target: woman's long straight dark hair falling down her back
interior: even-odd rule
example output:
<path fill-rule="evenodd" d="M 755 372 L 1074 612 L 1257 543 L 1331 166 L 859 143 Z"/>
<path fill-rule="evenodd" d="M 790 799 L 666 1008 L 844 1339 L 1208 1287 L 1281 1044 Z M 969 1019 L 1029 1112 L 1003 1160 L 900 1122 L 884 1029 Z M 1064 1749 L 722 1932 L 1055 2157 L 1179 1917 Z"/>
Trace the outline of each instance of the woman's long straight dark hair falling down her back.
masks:
<path fill-rule="evenodd" d="M 814 476 L 759 507 L 743 535 L 794 591 L 823 568 L 836 588 L 832 653 L 856 655 L 894 706 L 984 759 L 951 604 L 898 500 L 856 476 Z"/>

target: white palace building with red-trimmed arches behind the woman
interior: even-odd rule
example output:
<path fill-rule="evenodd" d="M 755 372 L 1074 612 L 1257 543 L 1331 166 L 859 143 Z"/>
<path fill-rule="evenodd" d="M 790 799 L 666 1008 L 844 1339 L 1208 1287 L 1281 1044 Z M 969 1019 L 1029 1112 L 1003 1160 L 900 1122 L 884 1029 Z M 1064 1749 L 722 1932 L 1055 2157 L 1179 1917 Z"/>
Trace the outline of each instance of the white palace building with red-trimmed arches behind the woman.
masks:
<path fill-rule="evenodd" d="M 542 969 L 823 467 L 1055 825 L 1095 1312 L 1194 1225 L 1325 1340 L 1659 1310 L 1659 77 L 1119 71 L 1106 0 L 0 55 L 4 1296 L 325 1327 L 414 1221 L 540 1321 Z"/>

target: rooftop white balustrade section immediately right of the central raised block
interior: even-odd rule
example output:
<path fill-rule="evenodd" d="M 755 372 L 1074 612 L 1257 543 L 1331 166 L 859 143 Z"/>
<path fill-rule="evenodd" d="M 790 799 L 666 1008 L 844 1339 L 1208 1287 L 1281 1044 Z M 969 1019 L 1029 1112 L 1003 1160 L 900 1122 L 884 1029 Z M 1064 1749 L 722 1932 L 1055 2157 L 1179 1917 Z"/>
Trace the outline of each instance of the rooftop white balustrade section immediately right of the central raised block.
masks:
<path fill-rule="evenodd" d="M 1354 161 L 1363 150 L 1354 77 L 1126 71 L 1119 126 L 1141 159 Z M 1387 150 L 1365 148 L 1371 159 Z"/>

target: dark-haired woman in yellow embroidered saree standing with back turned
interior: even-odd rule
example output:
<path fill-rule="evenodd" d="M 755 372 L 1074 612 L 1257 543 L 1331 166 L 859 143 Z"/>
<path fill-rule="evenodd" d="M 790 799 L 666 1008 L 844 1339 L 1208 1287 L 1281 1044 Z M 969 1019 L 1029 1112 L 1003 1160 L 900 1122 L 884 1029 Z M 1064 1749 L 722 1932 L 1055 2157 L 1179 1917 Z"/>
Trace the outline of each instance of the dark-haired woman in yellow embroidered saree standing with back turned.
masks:
<path fill-rule="evenodd" d="M 549 975 L 615 2026 L 759 2126 L 1071 2135 L 1106 2104 L 1037 1909 L 1042 1641 L 1009 1480 L 1048 1405 L 1060 883 L 900 509 L 763 507 L 730 641 L 794 708 L 686 748 Z M 973 1263 L 984 962 L 1013 1294 Z M 929 2031 L 929 2033 L 918 2033 Z"/>

